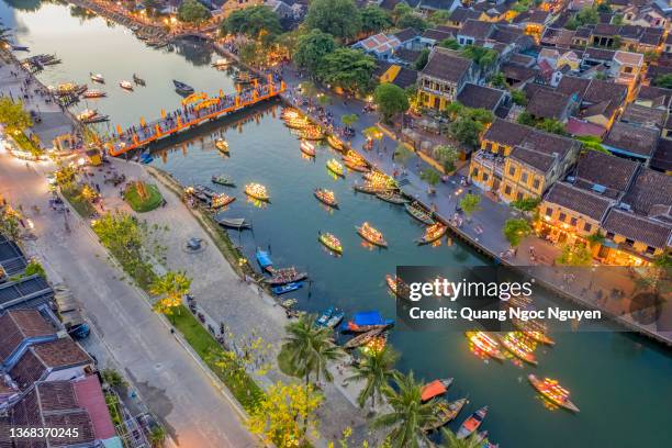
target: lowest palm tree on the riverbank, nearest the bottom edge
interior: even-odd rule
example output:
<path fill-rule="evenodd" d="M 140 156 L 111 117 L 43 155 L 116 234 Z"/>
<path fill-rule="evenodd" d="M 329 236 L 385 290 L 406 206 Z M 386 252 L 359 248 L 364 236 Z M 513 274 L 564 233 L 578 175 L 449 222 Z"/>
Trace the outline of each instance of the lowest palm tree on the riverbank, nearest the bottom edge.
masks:
<path fill-rule="evenodd" d="M 436 401 L 423 403 L 423 384 L 415 381 L 413 372 L 394 376 L 396 390 L 385 388 L 384 394 L 392 412 L 383 414 L 372 423 L 374 428 L 388 427 L 388 440 L 392 447 L 418 448 L 421 440 L 429 444 L 423 427 L 436 423 Z"/>

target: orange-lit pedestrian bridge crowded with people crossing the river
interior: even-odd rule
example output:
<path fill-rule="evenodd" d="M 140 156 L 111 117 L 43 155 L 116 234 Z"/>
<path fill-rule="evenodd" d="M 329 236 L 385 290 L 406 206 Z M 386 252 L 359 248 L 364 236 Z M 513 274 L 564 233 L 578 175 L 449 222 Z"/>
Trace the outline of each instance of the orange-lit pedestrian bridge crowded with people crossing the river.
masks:
<path fill-rule="evenodd" d="M 238 85 L 239 86 L 239 85 Z M 256 79 L 247 88 L 238 87 L 234 94 L 208 97 L 205 93 L 193 93 L 181 101 L 181 108 L 166 113 L 161 117 L 145 122 L 141 116 L 139 124 L 122 130 L 116 125 L 116 132 L 102 142 L 108 154 L 120 156 L 133 149 L 142 148 L 153 142 L 197 127 L 203 123 L 221 119 L 232 113 L 250 108 L 284 92 L 284 81 L 276 81 L 269 75 L 266 83 Z"/>

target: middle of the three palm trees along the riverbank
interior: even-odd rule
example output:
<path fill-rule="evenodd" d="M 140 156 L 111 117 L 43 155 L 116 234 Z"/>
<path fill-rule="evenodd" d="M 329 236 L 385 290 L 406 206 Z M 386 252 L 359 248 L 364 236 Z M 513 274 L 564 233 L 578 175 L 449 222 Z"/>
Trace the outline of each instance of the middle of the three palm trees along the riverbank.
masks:
<path fill-rule="evenodd" d="M 394 377 L 394 363 L 399 359 L 399 354 L 390 346 L 382 350 L 368 351 L 361 362 L 357 366 L 357 373 L 347 381 L 366 381 L 367 384 L 357 396 L 357 403 L 363 407 L 367 399 L 371 399 L 371 407 L 376 407 L 376 396 L 382 394 L 389 387 L 390 380 Z"/>

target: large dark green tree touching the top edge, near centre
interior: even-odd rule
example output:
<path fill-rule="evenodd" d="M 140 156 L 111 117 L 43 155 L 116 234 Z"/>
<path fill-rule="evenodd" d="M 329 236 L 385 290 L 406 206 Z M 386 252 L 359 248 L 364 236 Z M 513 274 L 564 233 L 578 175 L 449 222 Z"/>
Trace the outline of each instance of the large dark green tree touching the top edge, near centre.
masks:
<path fill-rule="evenodd" d="M 309 30 L 318 29 L 349 41 L 361 31 L 361 13 L 352 0 L 313 0 L 304 23 Z"/>

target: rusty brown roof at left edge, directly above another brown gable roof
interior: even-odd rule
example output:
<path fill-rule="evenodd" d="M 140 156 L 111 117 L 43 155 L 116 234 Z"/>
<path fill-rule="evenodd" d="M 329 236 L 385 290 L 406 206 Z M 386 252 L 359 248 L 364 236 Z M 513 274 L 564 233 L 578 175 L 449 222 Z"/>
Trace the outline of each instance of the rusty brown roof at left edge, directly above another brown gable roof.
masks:
<path fill-rule="evenodd" d="M 27 338 L 51 336 L 56 328 L 37 310 L 10 310 L 0 316 L 0 362 Z"/>

